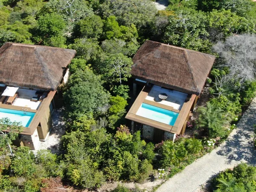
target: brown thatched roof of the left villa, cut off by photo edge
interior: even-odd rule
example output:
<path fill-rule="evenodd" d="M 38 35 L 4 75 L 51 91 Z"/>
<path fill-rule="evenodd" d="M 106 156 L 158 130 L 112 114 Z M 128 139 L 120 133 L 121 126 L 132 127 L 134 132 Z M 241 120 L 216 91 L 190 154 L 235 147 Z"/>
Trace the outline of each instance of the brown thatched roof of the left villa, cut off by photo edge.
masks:
<path fill-rule="evenodd" d="M 0 84 L 56 90 L 76 51 L 6 43 L 0 48 Z"/>

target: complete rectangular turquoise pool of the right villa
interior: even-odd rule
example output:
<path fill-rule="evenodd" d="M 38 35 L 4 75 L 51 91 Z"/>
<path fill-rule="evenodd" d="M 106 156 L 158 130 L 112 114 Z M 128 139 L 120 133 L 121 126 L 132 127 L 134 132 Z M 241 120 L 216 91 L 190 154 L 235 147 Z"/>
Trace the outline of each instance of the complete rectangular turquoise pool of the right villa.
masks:
<path fill-rule="evenodd" d="M 136 115 L 173 126 L 179 113 L 143 103 Z"/>

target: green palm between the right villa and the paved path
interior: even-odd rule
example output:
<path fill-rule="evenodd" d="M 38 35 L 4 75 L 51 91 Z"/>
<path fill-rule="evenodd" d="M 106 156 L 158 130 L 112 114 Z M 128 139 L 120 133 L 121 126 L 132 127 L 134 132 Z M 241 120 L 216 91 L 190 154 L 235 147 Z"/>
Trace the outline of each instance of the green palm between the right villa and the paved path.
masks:
<path fill-rule="evenodd" d="M 216 108 L 210 102 L 207 107 L 198 108 L 200 113 L 198 126 L 207 128 L 210 138 L 223 137 L 225 135 L 225 126 L 230 122 L 230 114 L 220 108 Z"/>

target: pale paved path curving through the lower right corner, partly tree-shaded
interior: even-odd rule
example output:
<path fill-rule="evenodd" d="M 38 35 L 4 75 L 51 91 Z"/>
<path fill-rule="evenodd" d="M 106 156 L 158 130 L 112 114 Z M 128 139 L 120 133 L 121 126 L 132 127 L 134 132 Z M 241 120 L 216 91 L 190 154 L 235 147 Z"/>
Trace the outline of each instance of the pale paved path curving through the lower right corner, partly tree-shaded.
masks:
<path fill-rule="evenodd" d="M 241 162 L 256 165 L 253 124 L 256 124 L 256 98 L 226 142 L 167 180 L 157 192 L 197 192 L 210 178 L 225 169 L 233 168 Z"/>

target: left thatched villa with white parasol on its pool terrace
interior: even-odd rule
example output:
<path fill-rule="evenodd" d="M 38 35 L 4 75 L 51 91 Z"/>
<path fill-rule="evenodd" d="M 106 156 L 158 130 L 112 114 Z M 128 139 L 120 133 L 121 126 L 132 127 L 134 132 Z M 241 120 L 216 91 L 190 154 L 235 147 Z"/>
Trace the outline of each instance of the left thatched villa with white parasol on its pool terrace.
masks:
<path fill-rule="evenodd" d="M 46 140 L 57 88 L 67 82 L 67 65 L 75 54 L 72 49 L 17 43 L 0 48 L 0 118 L 21 122 L 18 145 L 37 149 Z"/>

